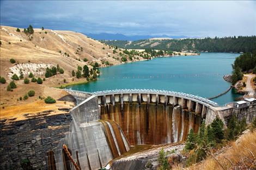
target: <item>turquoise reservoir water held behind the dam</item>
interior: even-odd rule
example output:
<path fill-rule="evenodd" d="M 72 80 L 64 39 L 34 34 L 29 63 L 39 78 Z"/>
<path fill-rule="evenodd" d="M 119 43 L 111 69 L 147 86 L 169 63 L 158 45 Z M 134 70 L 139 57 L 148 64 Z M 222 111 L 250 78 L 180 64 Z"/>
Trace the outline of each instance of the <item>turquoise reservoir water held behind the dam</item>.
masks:
<path fill-rule="evenodd" d="M 239 54 L 201 53 L 196 56 L 155 58 L 149 61 L 100 68 L 97 81 L 69 86 L 67 89 L 101 91 L 113 89 L 170 90 L 209 98 L 224 92 L 230 83 L 222 78 L 231 73 L 231 64 Z M 219 105 L 233 102 L 237 95 L 230 90 L 212 99 Z"/>

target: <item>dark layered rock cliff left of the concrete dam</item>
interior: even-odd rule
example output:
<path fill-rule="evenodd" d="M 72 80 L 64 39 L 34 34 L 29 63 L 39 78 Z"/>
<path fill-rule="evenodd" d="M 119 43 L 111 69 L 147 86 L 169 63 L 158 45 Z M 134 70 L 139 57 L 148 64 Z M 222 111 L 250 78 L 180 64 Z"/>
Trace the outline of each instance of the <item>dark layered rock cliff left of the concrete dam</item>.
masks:
<path fill-rule="evenodd" d="M 33 169 L 47 169 L 47 152 L 57 147 L 69 131 L 69 113 L 45 116 L 39 114 L 23 121 L 0 121 L 0 169 L 22 169 L 28 159 Z"/>

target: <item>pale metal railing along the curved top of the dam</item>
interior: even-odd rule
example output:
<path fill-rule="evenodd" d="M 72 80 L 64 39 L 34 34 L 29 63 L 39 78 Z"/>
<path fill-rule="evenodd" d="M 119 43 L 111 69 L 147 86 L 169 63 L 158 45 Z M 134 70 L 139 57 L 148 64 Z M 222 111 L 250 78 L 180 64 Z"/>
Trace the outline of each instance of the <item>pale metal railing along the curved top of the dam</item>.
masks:
<path fill-rule="evenodd" d="M 205 104 L 209 104 L 211 106 L 217 107 L 218 104 L 216 102 L 213 102 L 209 99 L 195 96 L 187 93 L 182 92 L 175 92 L 175 91 L 167 91 L 167 90 L 152 90 L 152 89 L 121 89 L 121 90 L 104 90 L 104 91 L 96 91 L 96 92 L 84 92 L 84 91 L 77 91 L 77 90 L 69 90 L 65 89 L 66 91 L 74 91 L 74 92 L 81 92 L 81 93 L 88 93 L 91 95 L 114 95 L 119 93 L 155 93 L 157 95 L 167 95 L 167 96 L 175 96 L 180 98 L 188 98 L 188 99 L 194 99 L 198 100 L 199 102 L 203 102 Z"/>

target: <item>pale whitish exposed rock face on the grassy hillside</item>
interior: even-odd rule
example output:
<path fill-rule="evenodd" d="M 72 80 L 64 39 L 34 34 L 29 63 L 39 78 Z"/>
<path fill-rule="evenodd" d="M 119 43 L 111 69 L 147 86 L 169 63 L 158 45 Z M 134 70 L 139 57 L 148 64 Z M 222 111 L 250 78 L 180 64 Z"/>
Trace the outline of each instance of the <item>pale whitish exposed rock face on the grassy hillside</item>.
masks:
<path fill-rule="evenodd" d="M 20 76 L 20 70 L 26 76 L 29 73 L 34 75 L 43 75 L 45 74 L 46 68 L 51 68 L 53 65 L 51 64 L 34 64 L 34 63 L 21 63 L 17 64 L 13 67 L 10 67 L 10 72 L 8 73 L 8 77 L 11 78 L 13 74 L 17 74 Z"/>

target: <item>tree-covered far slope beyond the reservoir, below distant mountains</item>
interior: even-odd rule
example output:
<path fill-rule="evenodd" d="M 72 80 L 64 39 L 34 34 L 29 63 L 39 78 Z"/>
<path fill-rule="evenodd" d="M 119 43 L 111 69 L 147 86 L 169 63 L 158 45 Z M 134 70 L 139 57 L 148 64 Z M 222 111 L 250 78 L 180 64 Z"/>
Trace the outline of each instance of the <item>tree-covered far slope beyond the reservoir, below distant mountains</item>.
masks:
<path fill-rule="evenodd" d="M 252 52 L 256 47 L 256 36 L 234 37 L 206 37 L 205 39 L 182 39 L 182 40 L 102 40 L 111 46 L 129 49 L 161 49 L 164 51 L 194 51 L 194 52 Z"/>

